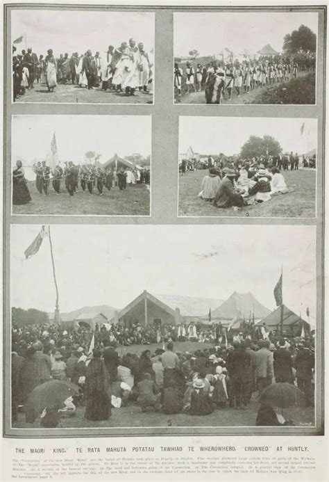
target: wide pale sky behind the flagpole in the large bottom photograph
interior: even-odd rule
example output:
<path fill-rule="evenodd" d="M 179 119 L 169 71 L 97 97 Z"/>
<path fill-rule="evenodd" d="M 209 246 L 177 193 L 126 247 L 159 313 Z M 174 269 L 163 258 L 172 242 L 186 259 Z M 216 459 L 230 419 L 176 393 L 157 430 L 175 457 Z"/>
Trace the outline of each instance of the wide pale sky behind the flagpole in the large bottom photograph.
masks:
<path fill-rule="evenodd" d="M 38 225 L 11 226 L 11 303 L 52 312 L 49 238 L 24 259 L 38 232 Z M 308 306 L 315 316 L 312 225 L 52 225 L 51 240 L 62 312 L 85 305 L 122 308 L 144 289 L 218 299 L 251 291 L 273 310 L 282 266 L 284 303 L 304 314 Z"/>

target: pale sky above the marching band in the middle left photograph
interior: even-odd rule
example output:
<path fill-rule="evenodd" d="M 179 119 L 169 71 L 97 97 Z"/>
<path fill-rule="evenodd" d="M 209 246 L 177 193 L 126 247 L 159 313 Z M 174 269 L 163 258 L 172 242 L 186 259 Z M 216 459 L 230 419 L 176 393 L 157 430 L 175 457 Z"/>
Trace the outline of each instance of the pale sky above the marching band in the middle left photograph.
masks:
<path fill-rule="evenodd" d="M 151 154 L 151 115 L 14 115 L 12 167 L 17 159 L 24 167 L 45 159 L 54 132 L 61 163 L 82 163 L 87 151 L 102 154 L 101 163 L 116 153 Z"/>

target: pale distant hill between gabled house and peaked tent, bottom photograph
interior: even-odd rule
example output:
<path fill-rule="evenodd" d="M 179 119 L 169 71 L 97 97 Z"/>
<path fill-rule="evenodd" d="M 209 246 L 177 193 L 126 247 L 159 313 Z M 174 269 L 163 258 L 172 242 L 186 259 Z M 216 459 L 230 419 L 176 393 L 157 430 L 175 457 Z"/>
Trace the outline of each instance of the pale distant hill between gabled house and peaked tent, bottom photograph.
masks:
<path fill-rule="evenodd" d="M 214 310 L 223 303 L 223 300 L 217 298 L 198 298 L 193 296 L 174 296 L 164 294 L 155 294 L 154 296 L 173 310 L 179 308 L 182 316 L 202 317 L 205 314 L 208 316 L 209 308 Z"/>

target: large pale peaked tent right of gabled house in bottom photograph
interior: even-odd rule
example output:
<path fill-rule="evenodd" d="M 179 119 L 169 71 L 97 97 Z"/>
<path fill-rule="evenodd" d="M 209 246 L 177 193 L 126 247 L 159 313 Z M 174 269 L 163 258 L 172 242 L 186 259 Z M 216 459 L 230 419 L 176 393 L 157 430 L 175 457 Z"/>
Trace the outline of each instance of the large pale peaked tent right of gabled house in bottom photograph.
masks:
<path fill-rule="evenodd" d="M 248 293 L 237 293 L 234 291 L 231 296 L 224 301 L 216 310 L 212 312 L 212 319 L 233 319 L 237 314 L 241 313 L 246 318 L 255 314 L 255 319 L 262 319 L 270 313 L 266 307 L 264 307 L 255 296 Z"/>

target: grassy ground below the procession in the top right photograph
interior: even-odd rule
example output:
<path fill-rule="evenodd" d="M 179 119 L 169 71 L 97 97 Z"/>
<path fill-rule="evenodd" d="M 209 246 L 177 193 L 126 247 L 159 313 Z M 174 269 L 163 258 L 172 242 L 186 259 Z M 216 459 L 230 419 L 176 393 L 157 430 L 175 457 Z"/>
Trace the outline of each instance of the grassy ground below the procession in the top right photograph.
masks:
<path fill-rule="evenodd" d="M 187 95 L 183 86 L 182 93 L 183 95 L 178 97 L 175 92 L 176 104 L 205 104 L 204 90 Z M 315 74 L 299 72 L 297 79 L 258 87 L 249 93 L 245 93 L 242 87 L 239 97 L 233 88 L 232 99 L 228 100 L 228 93 L 225 91 L 222 104 L 315 104 Z"/>

